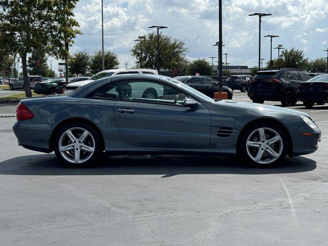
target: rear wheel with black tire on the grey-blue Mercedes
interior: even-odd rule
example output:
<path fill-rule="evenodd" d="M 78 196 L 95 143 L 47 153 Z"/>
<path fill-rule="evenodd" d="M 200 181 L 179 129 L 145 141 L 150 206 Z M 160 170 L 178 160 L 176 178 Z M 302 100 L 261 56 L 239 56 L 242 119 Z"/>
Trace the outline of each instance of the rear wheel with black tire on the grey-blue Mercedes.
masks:
<path fill-rule="evenodd" d="M 69 137 L 67 131 L 70 131 L 73 137 L 72 135 Z M 79 143 L 77 140 L 83 133 L 87 133 L 87 136 Z M 89 125 L 74 122 L 61 127 L 56 132 L 53 146 L 57 158 L 63 165 L 73 168 L 84 168 L 91 166 L 99 156 L 101 152 L 101 139 L 95 129 Z M 60 148 L 63 147 L 67 147 L 67 151 L 60 151 Z"/>

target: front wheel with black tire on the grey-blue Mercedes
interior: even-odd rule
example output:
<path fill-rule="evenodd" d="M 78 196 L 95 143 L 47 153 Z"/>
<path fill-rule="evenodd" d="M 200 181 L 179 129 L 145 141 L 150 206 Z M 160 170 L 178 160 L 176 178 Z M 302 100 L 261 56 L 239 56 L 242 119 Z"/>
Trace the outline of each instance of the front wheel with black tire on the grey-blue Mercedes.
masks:
<path fill-rule="evenodd" d="M 260 140 L 259 132 L 262 131 L 260 129 L 264 131 L 264 142 Z M 276 142 L 270 145 L 267 140 L 273 139 L 273 137 L 277 137 Z M 240 158 L 247 160 L 250 165 L 266 168 L 273 167 L 281 162 L 286 156 L 287 150 L 288 139 L 280 127 L 270 122 L 257 122 L 241 133 L 237 153 Z M 256 160 L 261 153 L 261 158 Z M 275 157 L 273 157 L 273 154 L 275 154 Z"/>

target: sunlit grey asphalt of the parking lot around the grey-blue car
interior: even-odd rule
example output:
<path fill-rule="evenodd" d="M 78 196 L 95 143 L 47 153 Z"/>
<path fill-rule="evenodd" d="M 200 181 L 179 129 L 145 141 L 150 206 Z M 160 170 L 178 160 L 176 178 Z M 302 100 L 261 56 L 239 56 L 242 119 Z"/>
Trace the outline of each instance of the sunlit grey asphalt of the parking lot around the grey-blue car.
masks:
<path fill-rule="evenodd" d="M 319 150 L 269 169 L 153 155 L 63 168 L 17 146 L 15 107 L 0 104 L 1 245 L 327 245 L 328 105 L 291 107 L 317 122 Z"/>

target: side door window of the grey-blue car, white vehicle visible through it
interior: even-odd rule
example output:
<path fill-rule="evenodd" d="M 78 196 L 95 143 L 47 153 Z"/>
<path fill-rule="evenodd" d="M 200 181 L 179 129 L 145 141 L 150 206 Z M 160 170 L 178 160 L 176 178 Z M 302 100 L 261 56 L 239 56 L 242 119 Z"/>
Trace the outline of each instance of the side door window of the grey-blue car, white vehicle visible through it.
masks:
<path fill-rule="evenodd" d="M 183 105 L 183 99 L 189 98 L 185 93 L 158 81 L 124 80 L 119 81 L 118 85 L 123 100 Z"/>

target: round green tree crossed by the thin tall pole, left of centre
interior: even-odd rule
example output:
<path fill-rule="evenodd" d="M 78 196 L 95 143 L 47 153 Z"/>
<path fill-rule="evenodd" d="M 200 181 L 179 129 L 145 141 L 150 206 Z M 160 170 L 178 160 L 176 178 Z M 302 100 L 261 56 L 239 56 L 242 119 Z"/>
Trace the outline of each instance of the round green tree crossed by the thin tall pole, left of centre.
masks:
<path fill-rule="evenodd" d="M 117 54 L 111 51 L 105 51 L 105 69 L 116 69 L 119 65 L 119 57 Z M 101 56 L 101 51 L 95 51 L 90 58 L 90 72 L 96 74 L 103 71 L 103 57 Z"/>

